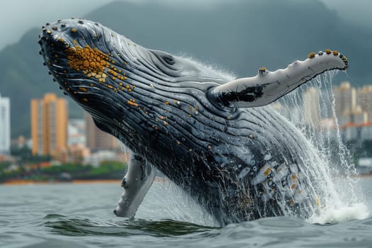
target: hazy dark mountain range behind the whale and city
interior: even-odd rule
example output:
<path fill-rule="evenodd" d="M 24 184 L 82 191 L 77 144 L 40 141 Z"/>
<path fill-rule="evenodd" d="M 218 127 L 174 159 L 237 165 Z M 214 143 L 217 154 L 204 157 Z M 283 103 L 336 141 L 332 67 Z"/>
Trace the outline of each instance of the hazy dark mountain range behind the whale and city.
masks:
<path fill-rule="evenodd" d="M 260 67 L 274 71 L 329 48 L 349 59 L 350 68 L 347 75 L 339 74 L 340 80 L 361 86 L 372 79 L 371 30 L 346 23 L 320 1 L 241 0 L 199 8 L 118 1 L 85 18 L 137 44 L 192 57 L 237 77 L 252 76 Z M 12 137 L 30 136 L 30 98 L 45 92 L 62 96 L 38 55 L 39 32 L 30 30 L 0 52 L 0 93 L 11 97 Z M 70 115 L 81 115 L 71 102 Z"/>

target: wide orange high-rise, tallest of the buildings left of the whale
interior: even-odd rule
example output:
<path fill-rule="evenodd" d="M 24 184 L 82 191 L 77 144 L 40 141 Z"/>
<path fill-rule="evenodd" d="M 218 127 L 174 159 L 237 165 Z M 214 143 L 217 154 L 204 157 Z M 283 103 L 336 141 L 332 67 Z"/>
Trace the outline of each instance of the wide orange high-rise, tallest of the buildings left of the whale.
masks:
<path fill-rule="evenodd" d="M 31 100 L 33 154 L 57 156 L 67 148 L 67 101 L 55 94 Z"/>

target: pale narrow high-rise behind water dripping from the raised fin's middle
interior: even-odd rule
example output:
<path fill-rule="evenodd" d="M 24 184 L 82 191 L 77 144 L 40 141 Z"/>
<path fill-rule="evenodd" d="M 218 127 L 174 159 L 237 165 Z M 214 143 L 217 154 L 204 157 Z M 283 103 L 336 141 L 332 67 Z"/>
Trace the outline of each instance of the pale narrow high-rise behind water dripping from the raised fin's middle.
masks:
<path fill-rule="evenodd" d="M 318 90 L 315 87 L 310 87 L 303 94 L 303 123 L 313 128 L 320 127 Z"/>

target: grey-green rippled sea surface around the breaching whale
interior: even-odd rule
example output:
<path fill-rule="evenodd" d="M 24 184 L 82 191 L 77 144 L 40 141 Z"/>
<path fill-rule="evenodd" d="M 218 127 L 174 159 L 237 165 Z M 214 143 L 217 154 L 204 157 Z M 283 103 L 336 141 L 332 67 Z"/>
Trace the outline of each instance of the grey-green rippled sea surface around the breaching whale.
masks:
<path fill-rule="evenodd" d="M 119 181 L 3 185 L 0 247 L 372 247 L 372 179 L 355 187 L 361 202 L 346 198 L 327 216 L 333 224 L 280 217 L 221 228 L 167 181 L 154 182 L 133 219 L 113 214 Z"/>

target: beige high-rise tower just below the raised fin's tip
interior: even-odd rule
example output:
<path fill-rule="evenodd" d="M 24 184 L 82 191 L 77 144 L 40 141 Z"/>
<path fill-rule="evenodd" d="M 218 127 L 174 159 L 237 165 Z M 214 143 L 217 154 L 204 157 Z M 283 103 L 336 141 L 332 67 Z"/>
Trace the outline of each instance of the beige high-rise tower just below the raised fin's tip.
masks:
<path fill-rule="evenodd" d="M 348 81 L 342 82 L 340 86 L 334 86 L 333 91 L 337 118 L 356 109 L 356 89 L 351 87 Z"/>

